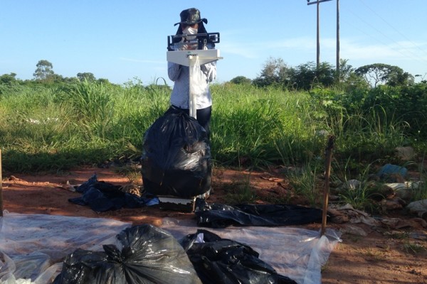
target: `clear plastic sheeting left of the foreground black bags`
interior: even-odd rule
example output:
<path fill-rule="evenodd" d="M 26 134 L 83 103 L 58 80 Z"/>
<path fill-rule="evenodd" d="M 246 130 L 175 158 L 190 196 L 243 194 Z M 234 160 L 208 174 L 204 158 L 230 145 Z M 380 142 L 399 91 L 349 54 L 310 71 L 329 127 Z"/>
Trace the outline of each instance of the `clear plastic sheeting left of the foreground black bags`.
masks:
<path fill-rule="evenodd" d="M 0 283 L 51 283 L 68 253 L 100 251 L 131 225 L 113 219 L 5 211 L 0 218 Z"/>

